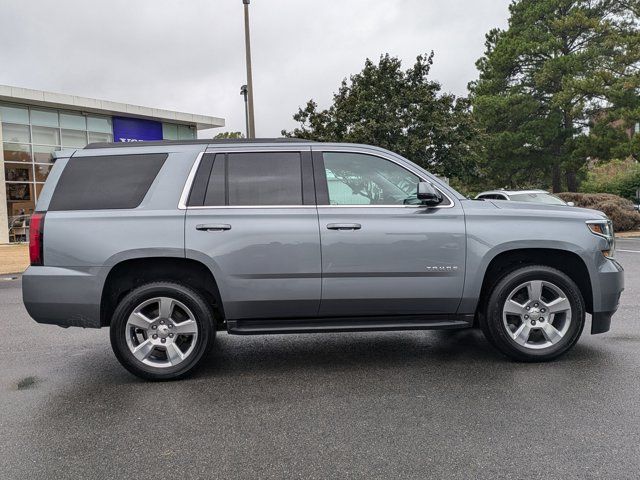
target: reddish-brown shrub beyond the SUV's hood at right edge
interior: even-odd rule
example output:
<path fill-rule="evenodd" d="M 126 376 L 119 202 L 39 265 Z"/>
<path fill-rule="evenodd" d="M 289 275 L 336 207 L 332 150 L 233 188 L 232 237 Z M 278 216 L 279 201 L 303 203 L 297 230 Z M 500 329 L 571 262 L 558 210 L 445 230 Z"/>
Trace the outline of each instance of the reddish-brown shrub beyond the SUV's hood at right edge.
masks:
<path fill-rule="evenodd" d="M 630 200 L 610 193 L 559 193 L 565 202 L 573 202 L 576 207 L 593 208 L 604 212 L 612 221 L 617 232 L 636 230 L 640 227 L 640 213 L 636 212 Z"/>

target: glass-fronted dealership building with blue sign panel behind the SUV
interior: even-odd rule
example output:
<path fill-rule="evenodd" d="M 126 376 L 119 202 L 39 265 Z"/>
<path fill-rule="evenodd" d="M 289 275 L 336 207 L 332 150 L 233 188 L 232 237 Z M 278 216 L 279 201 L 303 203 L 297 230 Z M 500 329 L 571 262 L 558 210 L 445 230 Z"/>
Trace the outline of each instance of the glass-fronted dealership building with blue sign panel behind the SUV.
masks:
<path fill-rule="evenodd" d="M 224 119 L 0 85 L 0 243 L 25 241 L 53 152 L 93 142 L 197 138 Z"/>

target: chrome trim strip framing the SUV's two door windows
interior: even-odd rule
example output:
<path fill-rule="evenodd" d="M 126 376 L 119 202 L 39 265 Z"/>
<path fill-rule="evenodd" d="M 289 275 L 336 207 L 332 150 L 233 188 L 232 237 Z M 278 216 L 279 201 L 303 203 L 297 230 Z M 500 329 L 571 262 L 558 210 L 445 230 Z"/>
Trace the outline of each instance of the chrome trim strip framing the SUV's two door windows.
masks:
<path fill-rule="evenodd" d="M 193 166 L 191 167 L 191 170 L 189 171 L 189 175 L 187 176 L 187 180 L 184 184 L 184 187 L 182 189 L 182 194 L 180 195 L 180 201 L 178 202 L 178 209 L 179 210 L 208 210 L 208 209 L 290 209 L 290 208 L 429 208 L 429 209 L 436 209 L 436 208 L 453 208 L 456 206 L 453 198 L 451 198 L 449 195 L 447 195 L 446 192 L 444 192 L 442 189 L 440 189 L 438 187 L 438 185 L 435 185 L 433 183 L 433 181 L 429 178 L 425 178 L 424 174 L 418 170 L 416 170 L 415 168 L 408 166 L 408 165 L 404 165 L 400 162 L 398 162 L 397 160 L 395 160 L 394 158 L 390 158 L 388 156 L 382 155 L 379 152 L 376 151 L 372 151 L 372 150 L 367 150 L 367 149 L 363 149 L 363 148 L 357 148 L 357 147 L 345 147 L 344 149 L 338 148 L 338 147 L 328 147 L 327 149 L 323 149 L 323 148 L 318 148 L 318 149 L 312 149 L 309 146 L 281 146 L 281 145 L 267 145 L 267 146 L 251 146 L 251 147 L 246 147 L 246 146 L 237 146 L 236 148 L 229 148 L 230 146 L 225 146 L 225 147 L 221 147 L 221 148 L 217 148 L 217 147 L 209 147 L 207 148 L 204 152 L 200 152 L 198 154 L 198 156 L 196 157 L 196 160 L 193 164 Z M 447 198 L 447 200 L 449 200 L 449 205 L 438 205 L 435 207 L 428 207 L 426 205 L 212 205 L 212 206 L 187 206 L 187 200 L 189 199 L 189 193 L 191 192 L 191 187 L 193 184 L 193 181 L 195 179 L 196 176 L 196 172 L 198 171 L 198 167 L 200 166 L 200 162 L 202 161 L 202 157 L 204 156 L 205 153 L 211 153 L 211 154 L 216 154 L 216 153 L 255 153 L 255 152 L 264 152 L 266 150 L 272 150 L 272 151 L 276 151 L 276 152 L 302 152 L 304 150 L 312 150 L 312 151 L 318 151 L 321 153 L 327 152 L 327 153 L 360 153 L 363 155 L 371 155 L 374 157 L 379 157 L 382 158 L 383 160 L 387 160 L 389 162 L 393 162 L 396 165 L 398 165 L 400 168 L 404 168 L 405 170 L 408 170 L 409 172 L 411 172 L 413 175 L 415 175 L 416 177 L 418 177 L 418 179 L 420 179 L 420 181 L 422 182 L 429 182 L 436 190 L 438 190 L 438 192 L 440 192 L 444 197 Z"/>

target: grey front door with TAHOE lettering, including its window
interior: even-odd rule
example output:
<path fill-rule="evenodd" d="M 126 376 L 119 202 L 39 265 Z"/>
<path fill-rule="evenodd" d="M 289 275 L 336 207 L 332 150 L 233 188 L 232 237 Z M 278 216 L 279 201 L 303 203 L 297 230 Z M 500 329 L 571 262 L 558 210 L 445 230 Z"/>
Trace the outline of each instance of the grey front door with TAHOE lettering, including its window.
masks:
<path fill-rule="evenodd" d="M 320 150 L 320 149 L 318 149 Z M 410 166 L 367 151 L 316 151 L 321 316 L 456 313 L 465 269 L 462 207 L 421 206 Z"/>

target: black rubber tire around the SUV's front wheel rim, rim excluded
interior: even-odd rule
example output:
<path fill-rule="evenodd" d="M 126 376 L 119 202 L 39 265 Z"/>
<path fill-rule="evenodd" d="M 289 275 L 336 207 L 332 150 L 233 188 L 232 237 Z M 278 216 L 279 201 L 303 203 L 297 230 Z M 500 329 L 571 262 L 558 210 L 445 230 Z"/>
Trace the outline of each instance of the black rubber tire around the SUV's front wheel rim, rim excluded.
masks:
<path fill-rule="evenodd" d="M 565 293 L 571 307 L 571 321 L 562 339 L 540 349 L 516 343 L 503 322 L 503 308 L 509 295 L 518 286 L 536 280 L 550 282 L 559 287 Z M 575 282 L 555 268 L 531 265 L 507 272 L 497 281 L 487 302 L 485 315 L 481 317 L 480 326 L 489 343 L 504 355 L 521 362 L 544 362 L 570 350 L 580 338 L 584 323 L 584 299 Z"/>

